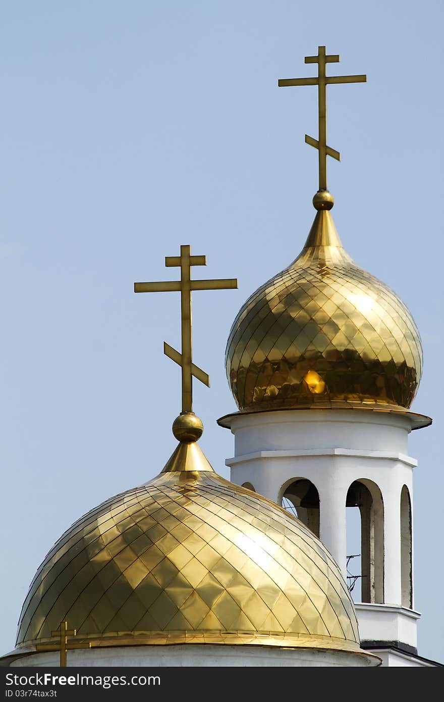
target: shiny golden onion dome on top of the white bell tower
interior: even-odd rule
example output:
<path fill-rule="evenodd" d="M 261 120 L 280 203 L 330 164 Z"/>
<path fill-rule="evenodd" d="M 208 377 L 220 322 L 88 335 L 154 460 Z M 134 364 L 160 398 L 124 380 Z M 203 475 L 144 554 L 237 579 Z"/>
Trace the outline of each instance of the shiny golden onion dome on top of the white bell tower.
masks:
<path fill-rule="evenodd" d="M 332 198 L 314 205 L 300 255 L 253 293 L 231 327 L 226 365 L 236 403 L 246 411 L 408 408 L 422 372 L 415 322 L 344 251 L 328 211 Z"/>

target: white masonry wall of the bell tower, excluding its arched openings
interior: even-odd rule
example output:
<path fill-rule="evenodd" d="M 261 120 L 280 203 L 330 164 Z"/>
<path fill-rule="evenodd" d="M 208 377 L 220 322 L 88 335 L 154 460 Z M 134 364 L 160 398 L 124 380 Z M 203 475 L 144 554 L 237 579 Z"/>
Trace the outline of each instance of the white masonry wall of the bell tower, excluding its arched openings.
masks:
<path fill-rule="evenodd" d="M 379 519 L 377 527 L 384 534 L 384 543 L 378 546 L 382 557 L 378 564 L 372 559 L 372 568 L 376 568 L 375 578 L 384 587 L 379 585 L 372 593 L 377 592 L 376 602 L 384 602 L 387 607 L 379 611 L 372 602 L 368 611 L 358 612 L 361 638 L 401 641 L 416 647 L 419 614 L 401 607 L 403 597 L 405 602 L 401 583 L 401 494 L 406 486 L 413 519 L 412 469 L 417 465 L 408 456 L 410 419 L 394 413 L 325 409 L 260 412 L 233 416 L 230 421 L 235 437 L 235 456 L 226 461 L 231 480 L 248 482 L 279 504 L 295 479 L 310 480 L 319 495 L 321 541 L 344 578 L 347 492 L 356 481 L 379 489 L 383 510 L 379 507 L 375 519 Z M 412 616 L 405 612 L 412 612 Z M 370 623 L 374 635 L 367 633 Z"/>

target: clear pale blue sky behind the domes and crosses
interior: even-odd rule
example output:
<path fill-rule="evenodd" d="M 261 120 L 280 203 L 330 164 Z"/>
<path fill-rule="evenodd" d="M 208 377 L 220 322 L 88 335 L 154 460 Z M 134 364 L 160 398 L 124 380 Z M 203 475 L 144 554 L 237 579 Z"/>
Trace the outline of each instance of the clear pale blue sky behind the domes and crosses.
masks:
<path fill-rule="evenodd" d="M 13 648 L 34 571 L 62 531 L 102 500 L 156 475 L 175 447 L 180 374 L 174 293 L 180 244 L 238 291 L 194 295 L 201 446 L 228 475 L 234 448 L 217 417 L 245 298 L 299 253 L 314 217 L 316 89 L 328 90 L 335 223 L 344 246 L 412 311 L 424 345 L 413 432 L 419 652 L 444 660 L 443 4 L 307 1 L 4 3 L 0 23 L 0 651 Z M 441 193 L 441 195 L 440 195 Z M 438 215 L 436 214 L 438 212 Z"/>

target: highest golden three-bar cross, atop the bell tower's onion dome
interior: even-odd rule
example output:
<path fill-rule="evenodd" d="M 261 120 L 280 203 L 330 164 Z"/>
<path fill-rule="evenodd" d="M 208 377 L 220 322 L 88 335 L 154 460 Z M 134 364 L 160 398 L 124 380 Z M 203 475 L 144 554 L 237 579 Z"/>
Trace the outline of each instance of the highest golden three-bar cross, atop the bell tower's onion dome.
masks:
<path fill-rule="evenodd" d="M 286 86 L 318 86 L 318 113 L 319 129 L 318 140 L 309 135 L 305 135 L 305 142 L 314 146 L 319 152 L 319 190 L 327 190 L 327 157 L 340 160 L 339 151 L 327 146 L 327 95 L 326 87 L 335 83 L 365 83 L 367 76 L 326 76 L 325 66 L 328 63 L 339 62 L 339 55 L 325 54 L 325 46 L 318 46 L 317 56 L 306 56 L 306 63 L 318 64 L 317 78 L 288 78 L 278 81 L 280 88 Z"/>

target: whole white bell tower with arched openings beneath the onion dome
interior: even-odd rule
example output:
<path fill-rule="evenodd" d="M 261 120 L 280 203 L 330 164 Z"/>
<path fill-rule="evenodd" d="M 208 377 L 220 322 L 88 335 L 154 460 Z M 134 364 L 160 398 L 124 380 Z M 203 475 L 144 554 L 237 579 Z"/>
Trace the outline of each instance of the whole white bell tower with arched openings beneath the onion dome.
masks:
<path fill-rule="evenodd" d="M 346 510 L 361 512 L 361 645 L 417 653 L 412 590 L 412 429 L 408 411 L 310 409 L 236 413 L 231 480 L 278 504 L 283 497 L 346 570 Z M 379 655 L 381 653 L 379 652 Z M 402 654 L 401 654 L 402 655 Z"/>

